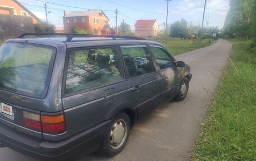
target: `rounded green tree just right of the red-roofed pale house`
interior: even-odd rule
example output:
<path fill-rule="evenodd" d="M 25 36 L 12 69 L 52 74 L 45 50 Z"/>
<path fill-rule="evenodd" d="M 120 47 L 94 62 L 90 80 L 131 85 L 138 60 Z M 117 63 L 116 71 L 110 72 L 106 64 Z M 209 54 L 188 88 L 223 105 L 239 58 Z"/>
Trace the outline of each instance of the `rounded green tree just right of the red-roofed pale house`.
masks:
<path fill-rule="evenodd" d="M 173 22 L 170 27 L 170 36 L 173 38 L 189 38 L 188 22 L 185 19 Z"/>

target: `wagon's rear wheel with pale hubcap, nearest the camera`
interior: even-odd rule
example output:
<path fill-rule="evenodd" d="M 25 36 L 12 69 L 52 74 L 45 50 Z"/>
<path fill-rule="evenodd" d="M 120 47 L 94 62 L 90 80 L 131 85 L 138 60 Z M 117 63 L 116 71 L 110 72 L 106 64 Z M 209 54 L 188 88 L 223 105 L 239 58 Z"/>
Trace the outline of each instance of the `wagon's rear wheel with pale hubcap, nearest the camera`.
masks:
<path fill-rule="evenodd" d="M 99 153 L 112 157 L 124 149 L 129 138 L 131 122 L 129 116 L 125 112 L 120 112 L 113 118 L 111 126 L 109 126 Z"/>

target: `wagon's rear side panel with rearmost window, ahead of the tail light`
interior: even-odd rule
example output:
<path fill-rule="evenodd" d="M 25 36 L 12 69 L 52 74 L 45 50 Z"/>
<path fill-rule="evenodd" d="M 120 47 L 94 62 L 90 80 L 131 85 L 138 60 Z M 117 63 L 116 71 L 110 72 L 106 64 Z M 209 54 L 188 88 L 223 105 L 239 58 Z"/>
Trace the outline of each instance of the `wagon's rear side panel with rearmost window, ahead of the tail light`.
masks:
<path fill-rule="evenodd" d="M 69 134 L 106 121 L 127 95 L 118 47 L 68 49 L 63 108 Z"/>

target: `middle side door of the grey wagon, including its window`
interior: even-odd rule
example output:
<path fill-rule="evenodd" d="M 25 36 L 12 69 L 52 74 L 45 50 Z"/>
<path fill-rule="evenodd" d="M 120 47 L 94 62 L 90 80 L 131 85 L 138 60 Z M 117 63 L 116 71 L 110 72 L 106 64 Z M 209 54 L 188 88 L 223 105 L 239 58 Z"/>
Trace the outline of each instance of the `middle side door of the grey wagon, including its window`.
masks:
<path fill-rule="evenodd" d="M 161 78 L 145 45 L 121 47 L 129 79 L 129 99 L 139 111 L 139 117 L 158 107 L 161 101 Z"/>

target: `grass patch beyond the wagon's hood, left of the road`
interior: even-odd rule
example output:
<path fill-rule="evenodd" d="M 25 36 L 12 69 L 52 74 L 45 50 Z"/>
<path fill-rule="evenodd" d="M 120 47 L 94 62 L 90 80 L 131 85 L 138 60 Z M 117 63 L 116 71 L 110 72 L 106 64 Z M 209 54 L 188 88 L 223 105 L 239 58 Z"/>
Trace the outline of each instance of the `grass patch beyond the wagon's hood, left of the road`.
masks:
<path fill-rule="evenodd" d="M 153 40 L 155 42 L 161 43 L 171 52 L 173 56 L 189 52 L 194 49 L 207 47 L 211 45 L 211 43 L 216 42 L 216 40 L 212 39 L 181 40 L 166 36 L 148 38 L 148 40 Z M 209 40 L 211 41 L 211 43 L 209 43 Z"/>

